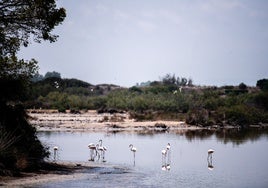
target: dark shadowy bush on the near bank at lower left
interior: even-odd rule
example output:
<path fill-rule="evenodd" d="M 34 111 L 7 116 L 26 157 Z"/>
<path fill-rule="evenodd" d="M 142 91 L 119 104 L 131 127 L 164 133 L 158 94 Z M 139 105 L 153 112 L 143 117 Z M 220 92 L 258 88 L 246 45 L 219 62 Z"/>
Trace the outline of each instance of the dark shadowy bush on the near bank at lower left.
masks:
<path fill-rule="evenodd" d="M 0 105 L 0 174 L 38 168 L 48 152 L 28 124 L 21 106 Z"/>

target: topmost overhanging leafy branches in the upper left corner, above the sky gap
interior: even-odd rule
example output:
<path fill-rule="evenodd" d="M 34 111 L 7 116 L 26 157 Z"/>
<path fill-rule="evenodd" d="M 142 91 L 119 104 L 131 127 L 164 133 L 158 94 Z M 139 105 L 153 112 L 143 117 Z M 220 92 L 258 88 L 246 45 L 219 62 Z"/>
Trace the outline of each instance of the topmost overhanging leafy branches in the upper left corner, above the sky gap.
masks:
<path fill-rule="evenodd" d="M 63 22 L 65 9 L 56 8 L 54 0 L 2 0 L 0 1 L 0 55 L 14 55 L 21 45 L 35 42 L 55 42 L 51 31 Z"/>

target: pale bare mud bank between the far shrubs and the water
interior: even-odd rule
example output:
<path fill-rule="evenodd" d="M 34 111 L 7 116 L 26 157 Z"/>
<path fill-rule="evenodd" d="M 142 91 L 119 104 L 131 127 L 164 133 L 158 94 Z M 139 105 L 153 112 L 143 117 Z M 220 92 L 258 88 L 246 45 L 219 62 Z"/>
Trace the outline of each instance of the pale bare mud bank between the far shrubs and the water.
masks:
<path fill-rule="evenodd" d="M 200 129 L 183 121 L 142 121 L 128 113 L 101 113 L 95 110 L 80 113 L 58 113 L 53 110 L 27 110 L 30 123 L 38 131 L 113 131 L 113 130 L 177 130 Z"/>

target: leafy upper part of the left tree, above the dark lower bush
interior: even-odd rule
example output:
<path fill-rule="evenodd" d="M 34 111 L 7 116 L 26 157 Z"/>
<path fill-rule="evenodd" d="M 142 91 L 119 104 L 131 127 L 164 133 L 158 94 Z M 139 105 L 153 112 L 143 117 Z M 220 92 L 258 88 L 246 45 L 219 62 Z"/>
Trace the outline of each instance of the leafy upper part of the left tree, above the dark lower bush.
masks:
<path fill-rule="evenodd" d="M 23 88 L 38 71 L 34 59 L 16 58 L 20 47 L 28 46 L 31 39 L 56 41 L 58 36 L 51 32 L 65 17 L 65 9 L 56 8 L 55 0 L 0 1 L 0 88 L 6 91 L 2 93 L 2 102 L 24 91 L 17 88 Z"/>

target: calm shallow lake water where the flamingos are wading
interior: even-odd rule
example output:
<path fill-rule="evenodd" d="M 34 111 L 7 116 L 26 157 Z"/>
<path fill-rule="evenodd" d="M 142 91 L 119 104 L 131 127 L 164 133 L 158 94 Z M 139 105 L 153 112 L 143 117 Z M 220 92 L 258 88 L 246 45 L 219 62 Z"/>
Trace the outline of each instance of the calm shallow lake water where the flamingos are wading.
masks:
<path fill-rule="evenodd" d="M 50 147 L 58 146 L 56 160 L 87 162 L 78 180 L 38 187 L 268 187 L 268 133 L 254 131 L 187 132 L 39 132 Z M 90 159 L 89 143 L 102 139 L 105 162 Z M 169 154 L 161 151 L 170 143 Z M 135 157 L 129 144 L 137 148 Z M 208 149 L 214 149 L 208 159 Z"/>

